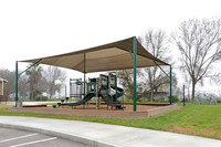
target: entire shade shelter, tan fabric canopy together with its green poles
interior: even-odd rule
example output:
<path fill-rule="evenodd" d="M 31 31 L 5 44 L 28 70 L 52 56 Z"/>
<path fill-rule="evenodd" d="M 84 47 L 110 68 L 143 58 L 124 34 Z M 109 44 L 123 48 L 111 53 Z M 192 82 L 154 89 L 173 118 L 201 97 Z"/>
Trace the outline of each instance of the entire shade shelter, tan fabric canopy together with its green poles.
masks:
<path fill-rule="evenodd" d="M 18 80 L 19 75 L 27 72 L 35 64 L 48 64 L 54 66 L 66 67 L 82 72 L 84 74 L 84 83 L 86 83 L 85 74 L 102 71 L 116 71 L 133 69 L 134 71 L 134 93 L 133 93 L 133 109 L 137 109 L 137 67 L 158 66 L 168 77 L 170 77 L 170 94 L 169 102 L 172 105 L 172 86 L 171 86 L 171 71 L 170 64 L 151 55 L 136 39 L 136 36 L 125 40 L 112 42 L 105 45 L 99 45 L 76 52 L 40 57 L 33 60 L 25 60 L 20 62 L 33 63 L 23 72 L 19 73 L 18 61 L 15 62 L 15 104 L 18 105 Z M 167 65 L 170 67 L 169 74 L 166 73 L 160 66 Z M 86 85 L 86 84 L 84 84 Z M 85 88 L 84 88 L 85 93 Z"/>

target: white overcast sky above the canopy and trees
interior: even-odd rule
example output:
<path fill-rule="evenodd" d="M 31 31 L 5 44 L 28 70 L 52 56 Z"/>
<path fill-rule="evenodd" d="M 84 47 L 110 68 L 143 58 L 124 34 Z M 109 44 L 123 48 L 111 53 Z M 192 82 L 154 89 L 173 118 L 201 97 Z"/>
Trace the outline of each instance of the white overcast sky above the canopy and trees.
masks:
<path fill-rule="evenodd" d="M 0 0 L 0 67 L 92 48 L 188 18 L 221 14 L 220 0 Z M 24 67 L 20 66 L 20 67 Z"/>

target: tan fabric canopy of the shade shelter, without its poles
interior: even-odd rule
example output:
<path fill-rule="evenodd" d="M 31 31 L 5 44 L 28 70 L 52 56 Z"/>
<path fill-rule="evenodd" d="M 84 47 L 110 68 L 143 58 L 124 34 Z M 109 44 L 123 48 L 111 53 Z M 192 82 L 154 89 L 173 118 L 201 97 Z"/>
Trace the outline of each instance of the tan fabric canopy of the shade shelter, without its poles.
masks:
<path fill-rule="evenodd" d="M 21 62 L 61 66 L 83 73 L 133 69 L 133 42 L 134 36 L 86 50 Z M 136 42 L 137 67 L 168 65 L 151 55 L 137 39 Z"/>

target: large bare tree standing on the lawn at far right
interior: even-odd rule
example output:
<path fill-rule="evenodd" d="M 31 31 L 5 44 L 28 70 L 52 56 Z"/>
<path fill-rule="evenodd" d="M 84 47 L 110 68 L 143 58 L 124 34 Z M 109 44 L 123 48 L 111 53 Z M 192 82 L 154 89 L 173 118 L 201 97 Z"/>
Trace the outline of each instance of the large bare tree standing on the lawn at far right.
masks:
<path fill-rule="evenodd" d="M 181 53 L 181 70 L 191 78 L 192 99 L 196 84 L 203 77 L 213 77 L 212 66 L 221 56 L 221 21 L 190 19 L 183 21 L 172 35 Z"/>

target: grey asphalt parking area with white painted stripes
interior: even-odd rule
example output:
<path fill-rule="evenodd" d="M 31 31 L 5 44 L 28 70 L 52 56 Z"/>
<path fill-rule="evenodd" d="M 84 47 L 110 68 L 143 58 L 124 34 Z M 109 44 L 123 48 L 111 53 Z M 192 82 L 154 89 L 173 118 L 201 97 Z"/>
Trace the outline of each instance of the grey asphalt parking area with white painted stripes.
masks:
<path fill-rule="evenodd" d="M 87 146 L 54 136 L 0 127 L 0 147 L 87 147 Z"/>

